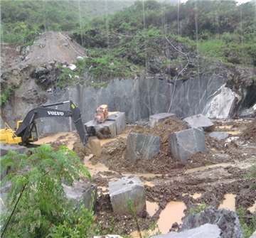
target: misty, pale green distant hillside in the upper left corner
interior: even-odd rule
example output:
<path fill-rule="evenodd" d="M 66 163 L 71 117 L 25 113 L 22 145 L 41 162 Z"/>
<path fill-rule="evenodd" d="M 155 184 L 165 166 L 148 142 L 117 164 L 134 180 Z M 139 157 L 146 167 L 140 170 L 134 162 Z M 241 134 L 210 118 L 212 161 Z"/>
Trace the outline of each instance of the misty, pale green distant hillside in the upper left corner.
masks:
<path fill-rule="evenodd" d="M 1 1 L 1 41 L 31 45 L 43 31 L 73 31 L 95 16 L 119 11 L 133 1 Z"/>

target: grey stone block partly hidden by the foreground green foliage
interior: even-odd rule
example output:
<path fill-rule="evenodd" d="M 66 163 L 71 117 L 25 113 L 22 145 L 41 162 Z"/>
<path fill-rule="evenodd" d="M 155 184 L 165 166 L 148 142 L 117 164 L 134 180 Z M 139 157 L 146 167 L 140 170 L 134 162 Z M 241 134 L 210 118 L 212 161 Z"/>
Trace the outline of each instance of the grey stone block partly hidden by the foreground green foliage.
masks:
<path fill-rule="evenodd" d="M 75 205 L 80 206 L 82 202 L 88 209 L 95 207 L 97 187 L 90 182 L 75 182 L 73 186 L 68 186 L 63 183 L 63 189 L 66 198 L 73 200 Z"/>

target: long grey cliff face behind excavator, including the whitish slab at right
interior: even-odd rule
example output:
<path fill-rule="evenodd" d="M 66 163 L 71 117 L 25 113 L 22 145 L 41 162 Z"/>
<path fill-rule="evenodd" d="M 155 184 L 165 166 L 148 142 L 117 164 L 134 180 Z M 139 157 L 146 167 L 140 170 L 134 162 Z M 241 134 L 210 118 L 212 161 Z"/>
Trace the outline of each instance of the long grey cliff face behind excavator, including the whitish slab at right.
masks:
<path fill-rule="evenodd" d="M 2 113 L 7 121 L 16 121 L 38 104 L 71 99 L 80 107 L 84 122 L 93 118 L 99 104 L 108 104 L 110 111 L 125 112 L 129 123 L 168 111 L 178 117 L 198 113 L 213 118 L 233 117 L 242 107 L 239 102 L 244 103 L 251 92 L 243 97 L 233 92 L 225 86 L 232 72 L 219 64 L 210 67 L 218 67 L 218 73 L 206 70 L 201 77 L 176 82 L 146 77 L 114 79 L 107 87 L 75 85 L 58 92 L 43 92 L 33 80 L 28 80 L 16 90 Z M 38 124 L 43 134 L 70 129 L 69 119 L 41 119 Z"/>

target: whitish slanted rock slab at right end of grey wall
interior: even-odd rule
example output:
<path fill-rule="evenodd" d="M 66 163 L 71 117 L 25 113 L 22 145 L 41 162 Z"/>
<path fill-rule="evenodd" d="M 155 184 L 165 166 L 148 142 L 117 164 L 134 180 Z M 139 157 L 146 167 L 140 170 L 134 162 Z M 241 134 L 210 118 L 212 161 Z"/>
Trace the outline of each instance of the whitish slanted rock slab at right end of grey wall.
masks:
<path fill-rule="evenodd" d="M 238 96 L 235 92 L 223 85 L 213 94 L 213 98 L 208 101 L 203 114 L 206 114 L 206 117 L 215 119 L 228 118 L 233 112 L 237 99 Z"/>

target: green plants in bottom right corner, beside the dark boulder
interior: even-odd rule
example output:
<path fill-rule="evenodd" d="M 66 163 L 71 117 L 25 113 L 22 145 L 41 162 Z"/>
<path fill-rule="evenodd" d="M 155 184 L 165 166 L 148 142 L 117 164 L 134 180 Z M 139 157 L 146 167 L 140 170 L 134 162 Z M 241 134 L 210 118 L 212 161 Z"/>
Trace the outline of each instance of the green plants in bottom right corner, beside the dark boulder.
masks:
<path fill-rule="evenodd" d="M 247 221 L 246 210 L 243 207 L 239 207 L 237 210 L 242 231 L 245 238 L 249 238 L 256 229 L 256 212 L 252 215 L 250 221 Z"/>

